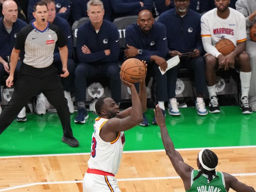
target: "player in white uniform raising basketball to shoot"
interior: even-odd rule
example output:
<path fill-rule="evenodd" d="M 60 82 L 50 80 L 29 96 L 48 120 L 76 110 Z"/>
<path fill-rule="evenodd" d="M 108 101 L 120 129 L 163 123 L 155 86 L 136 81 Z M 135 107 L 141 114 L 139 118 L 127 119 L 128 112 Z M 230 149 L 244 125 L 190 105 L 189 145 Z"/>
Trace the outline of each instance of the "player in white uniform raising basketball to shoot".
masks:
<path fill-rule="evenodd" d="M 147 71 L 146 61 L 142 61 Z M 132 107 L 119 110 L 112 98 L 97 100 L 95 109 L 99 117 L 95 119 L 92 134 L 91 157 L 88 170 L 84 175 L 84 192 L 121 192 L 115 174 L 117 173 L 123 153 L 124 131 L 143 121 L 142 113 L 147 109 L 145 76 L 140 79 L 139 94 L 134 84 L 120 79 L 131 89 Z"/>

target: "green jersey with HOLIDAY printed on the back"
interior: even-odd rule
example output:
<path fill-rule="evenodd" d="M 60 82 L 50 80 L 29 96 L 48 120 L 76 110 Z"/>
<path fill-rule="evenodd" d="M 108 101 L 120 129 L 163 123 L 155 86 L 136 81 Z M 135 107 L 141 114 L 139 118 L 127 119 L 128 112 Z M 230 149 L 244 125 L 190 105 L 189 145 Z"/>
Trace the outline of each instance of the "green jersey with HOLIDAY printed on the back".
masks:
<path fill-rule="evenodd" d="M 227 192 L 225 189 L 225 180 L 222 172 L 217 172 L 213 179 L 209 182 L 208 176 L 204 173 L 193 181 L 200 170 L 191 172 L 191 188 L 186 192 Z"/>

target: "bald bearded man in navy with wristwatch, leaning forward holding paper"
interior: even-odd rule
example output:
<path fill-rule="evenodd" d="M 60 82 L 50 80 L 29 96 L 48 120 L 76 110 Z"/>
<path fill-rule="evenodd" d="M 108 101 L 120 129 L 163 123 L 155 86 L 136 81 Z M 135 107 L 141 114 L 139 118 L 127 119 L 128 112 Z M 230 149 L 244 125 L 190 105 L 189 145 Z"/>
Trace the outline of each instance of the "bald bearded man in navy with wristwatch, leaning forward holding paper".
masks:
<path fill-rule="evenodd" d="M 162 23 L 154 22 L 152 13 L 148 10 L 142 10 L 139 13 L 137 23 L 128 26 L 125 29 L 125 57 L 145 60 L 148 64 L 148 77 L 156 78 L 156 100 L 164 112 L 164 101 L 168 100 L 167 93 L 167 73 L 161 74 L 160 68 L 164 71 L 167 68 L 165 56 L 168 52 L 166 28 Z M 150 75 L 149 75 L 150 74 Z M 148 78 L 147 78 L 148 79 Z M 141 126 L 148 126 L 148 119 L 143 113 L 144 121 Z M 156 119 L 153 119 L 156 124 Z"/>

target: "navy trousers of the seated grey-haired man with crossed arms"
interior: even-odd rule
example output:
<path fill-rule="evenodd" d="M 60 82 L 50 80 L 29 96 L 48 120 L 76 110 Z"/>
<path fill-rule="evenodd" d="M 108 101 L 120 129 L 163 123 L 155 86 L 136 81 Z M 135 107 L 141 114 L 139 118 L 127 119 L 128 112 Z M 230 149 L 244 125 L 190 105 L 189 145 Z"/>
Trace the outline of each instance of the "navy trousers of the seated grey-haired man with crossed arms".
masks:
<path fill-rule="evenodd" d="M 86 101 L 86 79 L 92 77 L 106 77 L 110 81 L 111 97 L 116 102 L 121 102 L 120 68 L 117 63 L 102 65 L 79 63 L 75 70 L 76 101 Z"/>

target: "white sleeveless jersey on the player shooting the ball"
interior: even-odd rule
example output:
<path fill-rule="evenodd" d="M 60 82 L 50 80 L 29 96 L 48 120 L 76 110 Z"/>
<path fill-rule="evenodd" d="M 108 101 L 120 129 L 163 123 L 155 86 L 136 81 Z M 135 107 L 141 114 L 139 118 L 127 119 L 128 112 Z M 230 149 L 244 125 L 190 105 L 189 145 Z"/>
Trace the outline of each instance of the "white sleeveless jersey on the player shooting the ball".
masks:
<path fill-rule="evenodd" d="M 108 120 L 100 117 L 95 119 L 88 166 L 90 169 L 98 169 L 116 175 L 123 154 L 125 138 L 124 132 L 119 132 L 116 140 L 112 142 L 106 142 L 100 138 L 100 129 Z"/>

